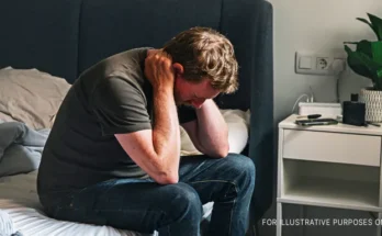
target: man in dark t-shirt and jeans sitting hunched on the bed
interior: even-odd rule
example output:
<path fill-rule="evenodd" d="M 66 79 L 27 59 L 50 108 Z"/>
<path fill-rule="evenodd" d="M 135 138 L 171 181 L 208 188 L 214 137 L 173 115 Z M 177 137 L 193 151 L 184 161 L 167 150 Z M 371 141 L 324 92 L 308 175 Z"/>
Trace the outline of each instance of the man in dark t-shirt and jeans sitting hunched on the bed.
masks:
<path fill-rule="evenodd" d="M 136 48 L 86 70 L 65 98 L 44 148 L 38 194 L 55 218 L 151 233 L 243 236 L 255 166 L 228 154 L 213 102 L 237 89 L 231 42 L 193 27 L 161 49 Z M 179 125 L 203 156 L 180 157 Z"/>

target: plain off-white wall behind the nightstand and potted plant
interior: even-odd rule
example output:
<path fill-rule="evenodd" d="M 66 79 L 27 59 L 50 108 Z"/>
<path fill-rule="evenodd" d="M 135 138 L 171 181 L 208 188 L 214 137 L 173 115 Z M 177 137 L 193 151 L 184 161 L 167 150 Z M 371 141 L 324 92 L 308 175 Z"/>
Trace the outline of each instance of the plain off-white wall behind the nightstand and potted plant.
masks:
<path fill-rule="evenodd" d="M 273 5 L 274 32 L 274 123 L 291 114 L 295 100 L 313 88 L 316 101 L 334 102 L 335 77 L 296 75 L 294 55 L 297 50 L 342 50 L 346 41 L 375 40 L 370 27 L 356 18 L 367 18 L 367 12 L 382 16 L 381 0 L 269 0 Z M 340 98 L 348 100 L 351 92 L 370 81 L 350 69 L 340 76 Z M 288 205 L 284 216 L 299 217 L 299 207 Z M 311 218 L 367 218 L 369 213 L 345 210 L 307 207 Z M 267 214 L 274 217 L 274 207 Z M 266 217 L 267 217 L 266 216 Z M 274 236 L 274 227 L 263 226 L 261 236 Z M 283 236 L 302 236 L 301 228 L 286 228 Z M 305 236 L 368 236 L 375 235 L 373 227 L 306 227 Z"/>

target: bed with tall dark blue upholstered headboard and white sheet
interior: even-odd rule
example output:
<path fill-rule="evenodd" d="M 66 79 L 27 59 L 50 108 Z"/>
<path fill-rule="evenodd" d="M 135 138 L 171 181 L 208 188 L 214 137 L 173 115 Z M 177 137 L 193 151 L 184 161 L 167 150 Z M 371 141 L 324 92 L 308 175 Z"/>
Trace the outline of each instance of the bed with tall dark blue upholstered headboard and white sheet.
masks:
<path fill-rule="evenodd" d="M 269 209 L 274 189 L 276 149 L 272 7 L 269 2 L 12 0 L 2 2 L 1 8 L 0 68 L 35 68 L 64 78 L 68 83 L 102 58 L 134 47 L 160 47 L 171 36 L 195 25 L 225 34 L 235 47 L 240 87 L 236 93 L 220 95 L 215 101 L 222 110 L 250 111 L 249 138 L 243 154 L 254 160 L 257 169 L 251 223 L 255 225 Z M 36 171 L 0 179 L 0 209 L 11 215 L 24 235 L 75 235 L 65 228 L 76 228 L 79 224 L 58 222 L 56 233 L 43 231 L 56 226 L 45 225 L 45 221 L 54 220 L 44 218 L 33 192 Z M 80 235 L 123 235 L 105 226 L 97 229 L 92 228 L 97 226 L 82 226 L 87 233 Z"/>

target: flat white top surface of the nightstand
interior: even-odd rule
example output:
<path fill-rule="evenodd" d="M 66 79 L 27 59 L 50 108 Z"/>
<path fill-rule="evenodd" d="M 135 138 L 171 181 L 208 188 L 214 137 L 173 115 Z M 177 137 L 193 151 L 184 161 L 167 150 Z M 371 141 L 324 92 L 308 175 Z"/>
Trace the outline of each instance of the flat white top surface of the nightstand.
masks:
<path fill-rule="evenodd" d="M 382 124 L 381 127 L 373 125 L 355 126 L 339 123 L 337 125 L 314 125 L 314 126 L 300 126 L 294 123 L 297 115 L 292 114 L 285 120 L 279 123 L 280 128 L 302 130 L 302 131 L 322 131 L 322 132 L 336 132 L 336 133 L 349 133 L 349 134 L 366 134 L 366 135 L 378 135 L 382 136 Z"/>

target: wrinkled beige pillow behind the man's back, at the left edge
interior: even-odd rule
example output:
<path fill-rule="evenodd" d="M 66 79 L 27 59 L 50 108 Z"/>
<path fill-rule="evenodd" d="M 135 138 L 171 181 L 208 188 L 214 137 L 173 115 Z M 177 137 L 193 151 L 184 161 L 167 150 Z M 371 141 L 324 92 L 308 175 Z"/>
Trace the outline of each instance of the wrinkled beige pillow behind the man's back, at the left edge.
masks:
<path fill-rule="evenodd" d="M 0 120 L 49 128 L 70 85 L 37 69 L 0 69 Z"/>

